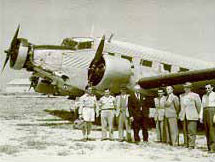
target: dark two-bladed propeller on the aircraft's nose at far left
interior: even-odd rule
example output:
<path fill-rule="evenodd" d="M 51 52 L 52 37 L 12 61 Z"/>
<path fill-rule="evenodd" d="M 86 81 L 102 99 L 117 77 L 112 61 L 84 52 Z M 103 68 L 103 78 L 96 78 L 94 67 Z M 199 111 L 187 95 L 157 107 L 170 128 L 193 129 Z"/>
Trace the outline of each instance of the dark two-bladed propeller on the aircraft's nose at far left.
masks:
<path fill-rule="evenodd" d="M 4 61 L 4 65 L 2 67 L 2 72 L 4 71 L 4 68 L 7 65 L 8 60 L 10 59 L 10 57 L 12 57 L 13 53 L 16 50 L 17 43 L 18 43 L 17 37 L 18 37 L 18 33 L 19 33 L 19 28 L 20 28 L 20 25 L 18 25 L 18 27 L 16 29 L 16 32 L 15 32 L 13 39 L 11 41 L 11 44 L 10 44 L 10 48 L 8 50 L 4 51 L 6 53 L 6 59 Z"/>

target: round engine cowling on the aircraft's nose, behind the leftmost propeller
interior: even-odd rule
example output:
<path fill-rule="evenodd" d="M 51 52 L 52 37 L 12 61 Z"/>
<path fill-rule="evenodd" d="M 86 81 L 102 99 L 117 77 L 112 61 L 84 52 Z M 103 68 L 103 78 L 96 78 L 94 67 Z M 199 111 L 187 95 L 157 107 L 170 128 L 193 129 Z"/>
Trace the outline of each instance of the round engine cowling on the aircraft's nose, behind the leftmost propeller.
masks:
<path fill-rule="evenodd" d="M 16 49 L 12 52 L 10 59 L 10 67 L 15 70 L 20 70 L 24 67 L 28 57 L 28 42 L 26 39 L 19 38 Z"/>

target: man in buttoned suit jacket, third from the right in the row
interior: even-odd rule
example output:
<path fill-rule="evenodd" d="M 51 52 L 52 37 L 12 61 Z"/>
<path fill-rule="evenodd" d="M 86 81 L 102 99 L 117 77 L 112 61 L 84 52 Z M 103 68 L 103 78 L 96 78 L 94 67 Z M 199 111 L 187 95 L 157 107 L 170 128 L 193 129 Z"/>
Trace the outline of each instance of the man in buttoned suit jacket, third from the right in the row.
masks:
<path fill-rule="evenodd" d="M 172 146 L 178 143 L 178 124 L 177 114 L 179 112 L 179 99 L 173 94 L 173 87 L 166 87 L 167 97 L 164 109 L 164 131 L 166 133 L 166 142 Z"/>

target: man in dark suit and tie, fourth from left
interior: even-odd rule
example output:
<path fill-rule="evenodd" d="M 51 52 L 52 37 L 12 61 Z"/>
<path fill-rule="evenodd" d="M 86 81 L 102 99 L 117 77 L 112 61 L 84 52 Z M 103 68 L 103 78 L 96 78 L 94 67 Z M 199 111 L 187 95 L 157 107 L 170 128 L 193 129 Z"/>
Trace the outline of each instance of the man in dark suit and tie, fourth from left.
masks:
<path fill-rule="evenodd" d="M 139 131 L 142 129 L 143 141 L 148 141 L 149 108 L 145 105 L 145 97 L 140 93 L 140 86 L 135 86 L 128 99 L 128 109 L 134 130 L 135 142 L 140 142 Z"/>

